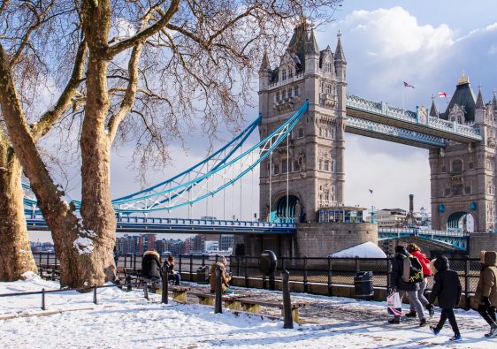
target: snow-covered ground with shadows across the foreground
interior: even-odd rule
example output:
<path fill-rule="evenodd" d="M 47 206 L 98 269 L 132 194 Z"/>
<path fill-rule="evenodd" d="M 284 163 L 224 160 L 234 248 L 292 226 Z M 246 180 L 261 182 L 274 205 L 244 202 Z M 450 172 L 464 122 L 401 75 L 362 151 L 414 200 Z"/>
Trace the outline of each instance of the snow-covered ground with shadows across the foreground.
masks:
<path fill-rule="evenodd" d="M 0 294 L 42 287 L 58 285 L 34 277 L 0 283 Z M 497 339 L 484 338 L 486 323 L 472 311 L 456 313 L 463 341 L 455 344 L 448 341 L 452 336 L 448 323 L 436 337 L 427 327 L 418 328 L 417 321 L 387 324 L 383 302 L 293 294 L 294 299 L 317 303 L 329 316 L 308 317 L 309 323 L 284 330 L 279 320 L 226 310 L 214 314 L 212 307 L 196 304 L 163 305 L 157 295 L 151 296 L 147 301 L 141 291 L 106 288 L 98 291 L 99 304 L 94 305 L 91 292 L 48 294 L 44 312 L 40 295 L 0 297 L 0 348 L 497 347 Z M 303 313 L 302 319 L 309 315 Z M 438 315 L 429 322 L 438 321 Z"/>

